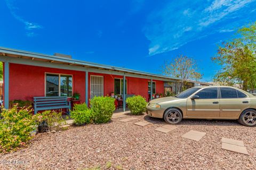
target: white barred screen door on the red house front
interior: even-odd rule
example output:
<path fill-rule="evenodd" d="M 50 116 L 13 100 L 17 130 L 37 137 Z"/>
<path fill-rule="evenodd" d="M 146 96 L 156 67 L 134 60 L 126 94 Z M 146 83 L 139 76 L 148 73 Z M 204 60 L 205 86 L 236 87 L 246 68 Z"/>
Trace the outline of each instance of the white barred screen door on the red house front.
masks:
<path fill-rule="evenodd" d="M 103 77 L 91 75 L 91 99 L 94 96 L 103 96 Z"/>

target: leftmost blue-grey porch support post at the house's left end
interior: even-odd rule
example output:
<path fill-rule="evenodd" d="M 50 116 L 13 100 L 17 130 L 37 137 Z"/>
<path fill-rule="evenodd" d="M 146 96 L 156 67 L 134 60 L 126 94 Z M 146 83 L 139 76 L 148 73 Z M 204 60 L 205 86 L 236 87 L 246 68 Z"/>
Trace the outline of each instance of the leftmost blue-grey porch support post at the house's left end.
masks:
<path fill-rule="evenodd" d="M 4 62 L 4 108 L 9 109 L 9 62 Z"/>

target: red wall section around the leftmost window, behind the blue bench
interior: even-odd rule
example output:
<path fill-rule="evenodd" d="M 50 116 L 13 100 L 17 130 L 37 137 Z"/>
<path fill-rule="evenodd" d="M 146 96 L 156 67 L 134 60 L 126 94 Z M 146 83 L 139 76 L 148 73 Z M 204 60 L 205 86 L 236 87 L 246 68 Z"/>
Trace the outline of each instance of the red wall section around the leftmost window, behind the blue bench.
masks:
<path fill-rule="evenodd" d="M 45 73 L 73 75 L 73 93 L 85 101 L 85 72 L 10 63 L 9 100 L 31 100 L 45 96 Z"/>

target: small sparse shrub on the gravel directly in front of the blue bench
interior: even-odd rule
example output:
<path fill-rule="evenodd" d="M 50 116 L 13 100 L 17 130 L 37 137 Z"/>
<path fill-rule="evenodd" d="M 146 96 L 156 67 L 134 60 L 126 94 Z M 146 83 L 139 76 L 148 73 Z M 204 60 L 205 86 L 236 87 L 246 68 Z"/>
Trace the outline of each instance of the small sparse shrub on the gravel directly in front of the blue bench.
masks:
<path fill-rule="evenodd" d="M 62 112 L 44 111 L 35 115 L 38 123 L 45 121 L 48 125 L 49 131 L 62 130 L 62 126 L 67 124 L 66 120 L 62 117 Z"/>

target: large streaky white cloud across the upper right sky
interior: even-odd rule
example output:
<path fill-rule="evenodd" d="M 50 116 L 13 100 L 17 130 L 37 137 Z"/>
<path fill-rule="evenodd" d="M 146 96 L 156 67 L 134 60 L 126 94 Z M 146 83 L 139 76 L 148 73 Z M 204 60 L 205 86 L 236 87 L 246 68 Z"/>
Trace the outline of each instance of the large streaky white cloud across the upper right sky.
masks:
<path fill-rule="evenodd" d="M 217 32 L 231 32 L 250 20 L 254 0 L 179 1 L 151 12 L 143 32 L 149 55 L 168 52 Z M 250 5 L 249 5 L 250 4 Z M 256 11 L 255 11 L 256 12 Z"/>

